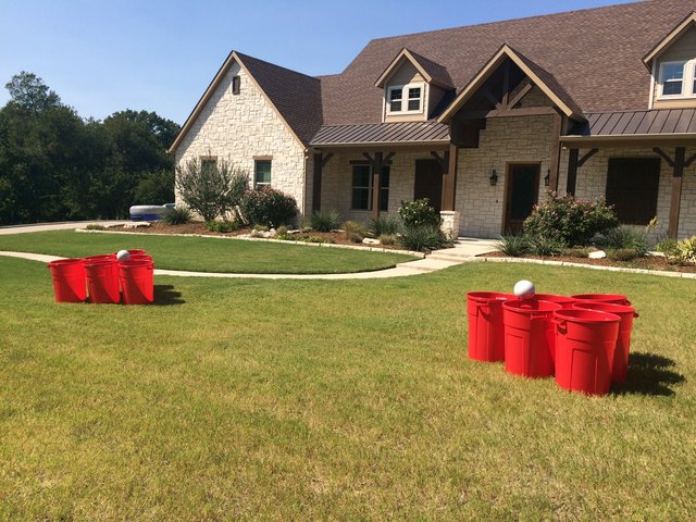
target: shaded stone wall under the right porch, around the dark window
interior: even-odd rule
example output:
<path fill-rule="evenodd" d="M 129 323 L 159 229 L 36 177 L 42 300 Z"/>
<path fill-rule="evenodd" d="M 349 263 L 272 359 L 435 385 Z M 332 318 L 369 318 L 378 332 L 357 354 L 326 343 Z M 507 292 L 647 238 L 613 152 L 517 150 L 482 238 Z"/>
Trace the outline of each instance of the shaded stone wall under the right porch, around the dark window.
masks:
<path fill-rule="evenodd" d="M 674 148 L 664 147 L 663 150 L 670 156 L 674 156 Z M 582 158 L 587 149 L 580 151 Z M 686 149 L 686 158 L 689 158 L 696 149 Z M 558 188 L 560 192 L 566 192 L 568 181 L 568 150 L 561 151 L 561 165 L 559 173 Z M 575 196 L 582 199 L 596 200 L 604 198 L 607 192 L 607 170 L 609 158 L 657 158 L 652 148 L 626 148 L 626 149 L 602 149 L 593 156 L 587 163 L 577 170 L 577 181 L 575 184 Z M 672 167 L 664 160 L 661 161 L 660 184 L 657 197 L 657 219 L 658 227 L 655 231 L 658 235 L 667 234 L 670 219 L 670 201 L 672 198 Z M 696 164 L 684 171 L 682 182 L 682 201 L 679 220 L 679 237 L 687 237 L 696 234 Z"/>

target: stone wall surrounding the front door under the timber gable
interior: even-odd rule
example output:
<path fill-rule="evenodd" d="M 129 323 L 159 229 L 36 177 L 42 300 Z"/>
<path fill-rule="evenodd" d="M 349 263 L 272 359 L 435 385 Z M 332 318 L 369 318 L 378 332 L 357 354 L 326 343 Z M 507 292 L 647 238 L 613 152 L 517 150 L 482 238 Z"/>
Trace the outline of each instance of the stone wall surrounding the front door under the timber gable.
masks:
<path fill-rule="evenodd" d="M 502 232 L 507 167 L 510 163 L 539 163 L 539 200 L 550 166 L 552 116 L 496 117 L 481 132 L 477 149 L 459 149 L 456 208 L 461 212 L 459 234 L 497 237 Z M 498 184 L 490 186 L 495 169 Z"/>

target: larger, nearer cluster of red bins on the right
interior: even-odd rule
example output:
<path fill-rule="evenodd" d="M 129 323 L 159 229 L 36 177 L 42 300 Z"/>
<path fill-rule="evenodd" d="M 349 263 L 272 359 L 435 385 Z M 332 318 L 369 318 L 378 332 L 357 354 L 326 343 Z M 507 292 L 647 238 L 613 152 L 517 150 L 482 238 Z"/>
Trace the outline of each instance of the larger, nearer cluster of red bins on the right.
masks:
<path fill-rule="evenodd" d="M 625 296 L 467 294 L 469 358 L 505 361 L 513 375 L 556 376 L 563 389 L 606 395 L 622 383 L 635 309 Z"/>

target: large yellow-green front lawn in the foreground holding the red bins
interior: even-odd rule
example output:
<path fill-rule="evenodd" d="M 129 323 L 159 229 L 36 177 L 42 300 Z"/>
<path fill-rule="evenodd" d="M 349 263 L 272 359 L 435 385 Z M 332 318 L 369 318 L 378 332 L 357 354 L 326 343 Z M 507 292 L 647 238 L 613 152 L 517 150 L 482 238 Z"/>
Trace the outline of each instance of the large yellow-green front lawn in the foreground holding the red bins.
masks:
<path fill-rule="evenodd" d="M 626 384 L 587 398 L 469 361 L 464 293 L 520 278 L 629 295 Z M 693 281 L 156 285 L 160 306 L 55 304 L 41 263 L 0 258 L 0 520 L 696 518 Z"/>

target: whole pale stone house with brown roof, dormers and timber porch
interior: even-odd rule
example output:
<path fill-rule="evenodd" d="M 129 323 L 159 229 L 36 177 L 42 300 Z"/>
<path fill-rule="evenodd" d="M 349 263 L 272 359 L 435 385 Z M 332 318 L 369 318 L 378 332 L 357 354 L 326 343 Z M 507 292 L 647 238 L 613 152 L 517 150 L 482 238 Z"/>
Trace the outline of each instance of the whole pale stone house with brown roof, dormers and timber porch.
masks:
<path fill-rule="evenodd" d="M 340 74 L 233 51 L 170 152 L 225 160 L 346 220 L 428 198 L 453 236 L 517 231 L 547 190 L 696 234 L 696 1 L 372 40 Z"/>

